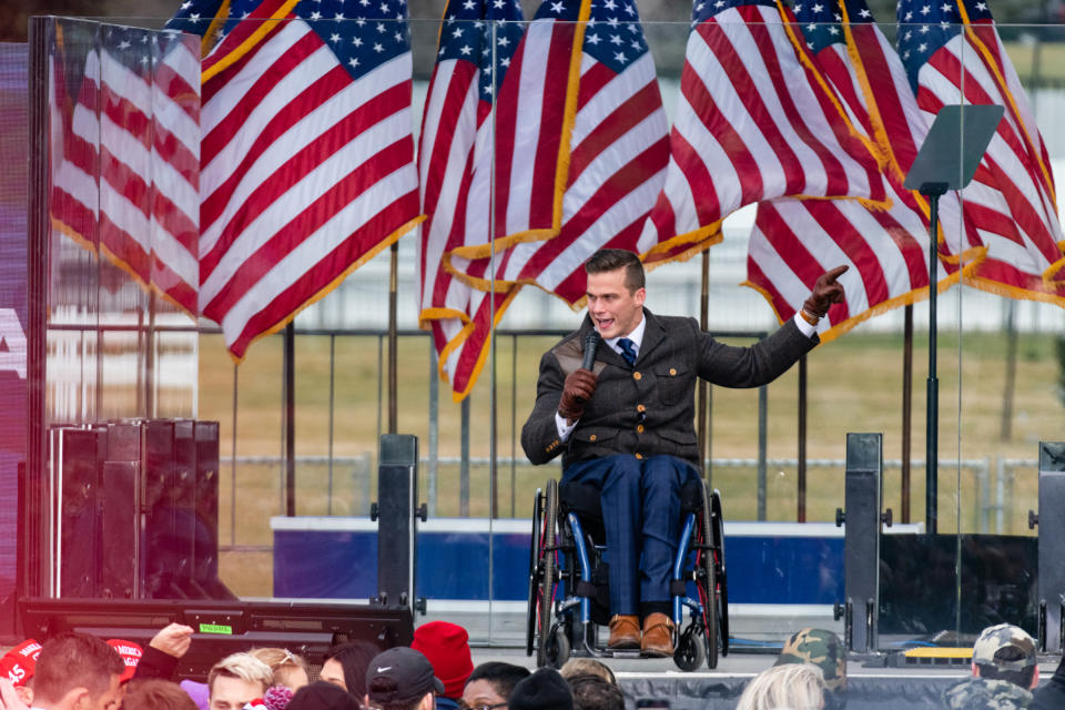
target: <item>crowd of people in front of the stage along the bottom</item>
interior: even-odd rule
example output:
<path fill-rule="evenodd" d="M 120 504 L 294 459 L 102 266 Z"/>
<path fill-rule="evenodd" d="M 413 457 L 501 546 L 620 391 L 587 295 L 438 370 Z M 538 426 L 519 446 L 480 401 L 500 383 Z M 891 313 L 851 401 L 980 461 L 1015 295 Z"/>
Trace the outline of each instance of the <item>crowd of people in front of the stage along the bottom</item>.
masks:
<path fill-rule="evenodd" d="M 625 710 L 610 668 L 575 658 L 560 670 L 530 671 L 489 661 L 474 666 L 465 629 L 432 621 L 409 647 L 381 651 L 365 641 L 332 649 L 312 681 L 307 662 L 282 648 L 219 660 L 205 683 L 175 682 L 192 628 L 172 623 L 146 648 L 120 639 L 62 633 L 28 640 L 0 658 L 3 710 Z M 1063 663 L 1065 666 L 1065 663 Z M 943 694 L 950 710 L 1065 709 L 1065 669 L 1039 683 L 1036 645 L 1023 629 L 985 629 L 972 677 Z M 784 642 L 775 663 L 754 676 L 737 710 L 843 710 L 846 649 L 823 629 Z M 640 707 L 640 706 L 638 706 Z M 661 706 L 668 707 L 668 702 Z"/>

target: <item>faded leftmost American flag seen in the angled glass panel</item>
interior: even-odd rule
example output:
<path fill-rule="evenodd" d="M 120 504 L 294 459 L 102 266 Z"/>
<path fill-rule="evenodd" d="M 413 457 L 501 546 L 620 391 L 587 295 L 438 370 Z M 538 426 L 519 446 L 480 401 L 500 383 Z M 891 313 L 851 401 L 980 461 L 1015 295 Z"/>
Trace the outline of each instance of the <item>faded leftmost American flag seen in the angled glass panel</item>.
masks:
<path fill-rule="evenodd" d="M 53 173 L 53 223 L 195 315 L 200 63 L 194 38 L 98 32 Z"/>

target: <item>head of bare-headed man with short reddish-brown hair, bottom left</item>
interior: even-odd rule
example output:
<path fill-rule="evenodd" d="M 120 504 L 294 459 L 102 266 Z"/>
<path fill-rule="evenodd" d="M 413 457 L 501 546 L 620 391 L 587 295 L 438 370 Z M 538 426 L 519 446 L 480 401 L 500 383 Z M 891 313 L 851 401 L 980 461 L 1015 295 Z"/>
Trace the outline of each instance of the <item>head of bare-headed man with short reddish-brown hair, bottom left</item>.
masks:
<path fill-rule="evenodd" d="M 113 648 L 85 633 L 44 642 L 33 672 L 33 706 L 43 710 L 116 710 L 125 663 Z"/>

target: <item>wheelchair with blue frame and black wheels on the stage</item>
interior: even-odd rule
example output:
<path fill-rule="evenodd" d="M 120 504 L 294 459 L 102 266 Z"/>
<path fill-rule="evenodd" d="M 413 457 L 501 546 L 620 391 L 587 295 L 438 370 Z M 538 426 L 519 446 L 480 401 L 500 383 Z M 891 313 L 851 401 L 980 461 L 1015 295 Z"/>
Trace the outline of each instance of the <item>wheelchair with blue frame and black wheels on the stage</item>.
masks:
<path fill-rule="evenodd" d="M 684 671 L 711 669 L 729 652 L 729 601 L 721 496 L 702 479 L 681 488 L 681 532 L 673 559 L 673 661 Z M 570 657 L 639 658 L 639 650 L 600 646 L 610 622 L 606 532 L 599 490 L 555 479 L 537 489 L 529 555 L 526 655 L 560 668 Z M 691 595 L 691 591 L 694 595 Z M 683 626 L 683 610 L 690 620 Z"/>

